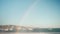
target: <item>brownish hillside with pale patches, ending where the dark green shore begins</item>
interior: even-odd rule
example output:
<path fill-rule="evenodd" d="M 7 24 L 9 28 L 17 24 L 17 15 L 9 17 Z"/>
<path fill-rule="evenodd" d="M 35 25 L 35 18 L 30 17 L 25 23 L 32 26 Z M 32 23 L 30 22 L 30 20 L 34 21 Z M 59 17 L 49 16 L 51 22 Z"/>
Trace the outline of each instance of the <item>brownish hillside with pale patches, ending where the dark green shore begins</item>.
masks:
<path fill-rule="evenodd" d="M 2 31 L 27 31 L 32 30 L 31 27 L 17 26 L 17 25 L 0 25 Z"/>

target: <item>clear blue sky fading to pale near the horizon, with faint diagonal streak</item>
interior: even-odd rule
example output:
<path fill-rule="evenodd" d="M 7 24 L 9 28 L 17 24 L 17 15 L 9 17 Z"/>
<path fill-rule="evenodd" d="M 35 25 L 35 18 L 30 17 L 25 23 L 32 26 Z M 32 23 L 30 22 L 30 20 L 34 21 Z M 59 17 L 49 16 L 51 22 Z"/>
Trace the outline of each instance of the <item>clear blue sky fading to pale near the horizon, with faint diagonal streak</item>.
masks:
<path fill-rule="evenodd" d="M 0 0 L 0 25 L 60 27 L 60 0 Z"/>

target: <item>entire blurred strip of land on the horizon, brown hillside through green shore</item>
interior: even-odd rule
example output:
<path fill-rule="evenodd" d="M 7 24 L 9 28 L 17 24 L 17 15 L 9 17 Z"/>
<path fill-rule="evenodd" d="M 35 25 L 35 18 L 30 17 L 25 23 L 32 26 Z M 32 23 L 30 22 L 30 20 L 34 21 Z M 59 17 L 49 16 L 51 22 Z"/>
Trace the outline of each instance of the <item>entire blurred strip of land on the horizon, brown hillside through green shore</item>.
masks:
<path fill-rule="evenodd" d="M 60 28 L 33 28 L 17 25 L 0 25 L 0 32 L 60 32 Z"/>

